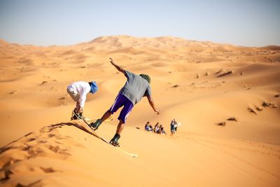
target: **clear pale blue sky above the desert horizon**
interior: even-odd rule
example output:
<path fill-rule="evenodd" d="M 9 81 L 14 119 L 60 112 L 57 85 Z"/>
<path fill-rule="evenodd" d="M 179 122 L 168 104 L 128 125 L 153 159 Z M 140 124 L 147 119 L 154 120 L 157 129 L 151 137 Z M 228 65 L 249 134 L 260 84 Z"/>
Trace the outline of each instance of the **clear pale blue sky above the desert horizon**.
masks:
<path fill-rule="evenodd" d="M 0 39 L 38 46 L 99 36 L 280 46 L 280 0 L 0 0 Z"/>

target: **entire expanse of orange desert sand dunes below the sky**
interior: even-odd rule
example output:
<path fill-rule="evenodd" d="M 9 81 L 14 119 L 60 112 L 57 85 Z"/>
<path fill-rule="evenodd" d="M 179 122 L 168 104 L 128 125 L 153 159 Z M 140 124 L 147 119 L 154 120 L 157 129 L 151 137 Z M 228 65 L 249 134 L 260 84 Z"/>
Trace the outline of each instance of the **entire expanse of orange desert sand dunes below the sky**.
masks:
<path fill-rule="evenodd" d="M 74 81 L 99 85 L 87 95 L 87 118 L 113 104 L 126 78 L 109 57 L 151 76 L 160 115 L 143 98 L 120 139 L 137 158 L 70 120 Z M 0 186 L 280 186 L 280 46 L 169 36 L 46 47 L 0 40 L 0 60 Z M 105 139 L 118 113 L 97 130 Z M 182 123 L 174 135 L 173 118 Z M 147 121 L 167 134 L 146 132 Z"/>

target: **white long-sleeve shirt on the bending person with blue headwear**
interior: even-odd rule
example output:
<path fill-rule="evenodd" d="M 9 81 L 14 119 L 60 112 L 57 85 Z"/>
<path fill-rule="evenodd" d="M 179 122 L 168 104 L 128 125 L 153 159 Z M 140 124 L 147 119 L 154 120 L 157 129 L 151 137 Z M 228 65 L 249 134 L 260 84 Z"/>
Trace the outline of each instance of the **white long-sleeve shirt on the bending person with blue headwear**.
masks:
<path fill-rule="evenodd" d="M 85 106 L 85 99 L 87 99 L 87 93 L 90 92 L 91 89 L 90 84 L 84 81 L 78 81 L 71 83 L 71 85 L 68 86 L 68 89 L 73 90 L 80 96 L 80 107 L 83 108 Z"/>

